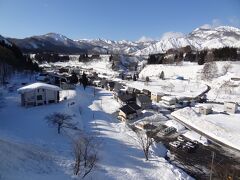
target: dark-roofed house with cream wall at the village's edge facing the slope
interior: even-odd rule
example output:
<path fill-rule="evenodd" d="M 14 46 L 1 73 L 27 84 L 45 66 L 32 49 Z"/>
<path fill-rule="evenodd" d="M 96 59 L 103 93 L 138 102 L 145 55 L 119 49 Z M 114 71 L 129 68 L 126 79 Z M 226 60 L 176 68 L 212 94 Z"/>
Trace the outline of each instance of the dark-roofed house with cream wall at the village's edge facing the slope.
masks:
<path fill-rule="evenodd" d="M 141 107 L 136 103 L 129 103 L 119 109 L 118 119 L 121 121 L 132 120 L 141 114 Z"/>

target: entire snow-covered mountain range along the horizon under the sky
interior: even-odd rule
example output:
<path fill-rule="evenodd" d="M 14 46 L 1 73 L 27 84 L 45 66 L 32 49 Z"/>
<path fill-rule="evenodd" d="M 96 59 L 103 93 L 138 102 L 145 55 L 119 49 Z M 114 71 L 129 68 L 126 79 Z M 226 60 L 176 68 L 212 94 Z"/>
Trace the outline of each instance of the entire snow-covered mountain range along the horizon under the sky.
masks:
<path fill-rule="evenodd" d="M 105 39 L 72 40 L 66 36 L 48 33 L 25 39 L 11 39 L 24 52 L 58 52 L 58 53 L 122 53 L 132 55 L 148 55 L 165 52 L 171 48 L 190 45 L 193 49 L 220 48 L 224 46 L 240 47 L 240 29 L 219 26 L 215 28 L 200 27 L 189 34 L 165 33 L 156 40 L 113 41 Z"/>

